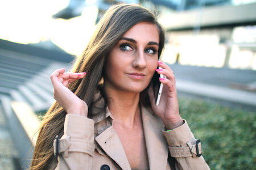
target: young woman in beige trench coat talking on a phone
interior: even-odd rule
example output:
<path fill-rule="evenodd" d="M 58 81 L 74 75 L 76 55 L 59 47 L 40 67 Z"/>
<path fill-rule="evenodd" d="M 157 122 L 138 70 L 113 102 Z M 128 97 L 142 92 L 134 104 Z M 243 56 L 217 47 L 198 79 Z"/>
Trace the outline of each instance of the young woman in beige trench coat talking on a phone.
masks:
<path fill-rule="evenodd" d="M 209 169 L 180 117 L 174 73 L 158 62 L 163 46 L 163 28 L 146 8 L 110 7 L 72 73 L 51 75 L 56 102 L 31 169 Z M 156 106 L 158 74 L 166 78 Z"/>

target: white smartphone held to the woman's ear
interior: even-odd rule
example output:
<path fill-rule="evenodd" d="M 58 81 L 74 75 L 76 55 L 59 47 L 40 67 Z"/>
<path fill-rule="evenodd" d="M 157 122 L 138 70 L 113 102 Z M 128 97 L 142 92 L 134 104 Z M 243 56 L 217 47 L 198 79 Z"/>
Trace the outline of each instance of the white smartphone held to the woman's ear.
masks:
<path fill-rule="evenodd" d="M 161 67 L 158 67 L 158 69 L 162 69 Z M 159 101 L 161 98 L 162 90 L 163 90 L 163 83 L 159 81 L 160 78 L 165 78 L 164 75 L 155 73 L 153 76 L 153 89 L 154 89 L 154 96 L 155 96 L 155 105 L 159 105 Z"/>

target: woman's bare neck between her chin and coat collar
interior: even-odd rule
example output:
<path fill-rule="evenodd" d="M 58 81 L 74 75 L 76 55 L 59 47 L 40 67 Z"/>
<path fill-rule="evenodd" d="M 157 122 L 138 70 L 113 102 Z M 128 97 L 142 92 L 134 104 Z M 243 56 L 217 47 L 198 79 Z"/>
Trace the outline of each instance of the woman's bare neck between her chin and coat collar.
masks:
<path fill-rule="evenodd" d="M 123 128 L 133 128 L 141 121 L 139 108 L 139 92 L 117 91 L 105 88 L 109 97 L 109 111 L 113 116 L 113 123 Z"/>

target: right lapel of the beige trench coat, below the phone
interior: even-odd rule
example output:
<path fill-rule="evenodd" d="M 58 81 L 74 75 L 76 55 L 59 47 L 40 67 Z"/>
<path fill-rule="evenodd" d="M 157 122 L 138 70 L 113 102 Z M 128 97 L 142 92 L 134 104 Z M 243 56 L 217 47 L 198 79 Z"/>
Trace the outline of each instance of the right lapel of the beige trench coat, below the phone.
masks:
<path fill-rule="evenodd" d="M 150 169 L 166 169 L 168 144 L 162 133 L 163 123 L 144 107 L 142 121 Z"/>

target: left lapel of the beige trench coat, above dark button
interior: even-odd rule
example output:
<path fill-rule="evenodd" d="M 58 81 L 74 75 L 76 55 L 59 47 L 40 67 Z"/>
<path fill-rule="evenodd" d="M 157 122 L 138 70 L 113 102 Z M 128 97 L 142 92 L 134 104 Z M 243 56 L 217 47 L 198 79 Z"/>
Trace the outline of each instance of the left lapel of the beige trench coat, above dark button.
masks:
<path fill-rule="evenodd" d="M 95 140 L 98 145 L 112 158 L 122 169 L 131 169 L 128 159 L 123 150 L 122 143 L 118 138 L 113 126 L 103 131 Z"/>

